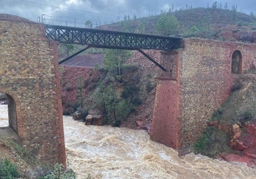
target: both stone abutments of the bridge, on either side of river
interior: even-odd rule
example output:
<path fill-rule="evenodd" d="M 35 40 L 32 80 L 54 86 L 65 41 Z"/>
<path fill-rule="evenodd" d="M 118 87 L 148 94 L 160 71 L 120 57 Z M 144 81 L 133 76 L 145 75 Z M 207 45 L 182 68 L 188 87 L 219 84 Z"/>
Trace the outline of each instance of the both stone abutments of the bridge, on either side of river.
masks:
<path fill-rule="evenodd" d="M 256 45 L 197 38 L 164 50 L 150 138 L 172 148 L 197 140 L 227 99 L 236 75 L 256 60 Z M 0 15 L 0 92 L 8 96 L 9 125 L 42 162 L 65 164 L 57 43 L 45 26 Z M 159 70 L 160 71 L 160 70 Z"/>

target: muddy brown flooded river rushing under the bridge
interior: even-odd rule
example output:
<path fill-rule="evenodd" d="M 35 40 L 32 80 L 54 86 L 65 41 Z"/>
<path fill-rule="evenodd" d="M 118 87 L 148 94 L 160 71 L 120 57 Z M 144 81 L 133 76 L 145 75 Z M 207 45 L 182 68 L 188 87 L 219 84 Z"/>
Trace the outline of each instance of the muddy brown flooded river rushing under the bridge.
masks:
<path fill-rule="evenodd" d="M 7 110 L 0 107 L 0 114 Z M 256 169 L 245 164 L 193 154 L 180 158 L 142 130 L 86 126 L 64 116 L 64 132 L 69 167 L 78 179 L 256 178 Z"/>

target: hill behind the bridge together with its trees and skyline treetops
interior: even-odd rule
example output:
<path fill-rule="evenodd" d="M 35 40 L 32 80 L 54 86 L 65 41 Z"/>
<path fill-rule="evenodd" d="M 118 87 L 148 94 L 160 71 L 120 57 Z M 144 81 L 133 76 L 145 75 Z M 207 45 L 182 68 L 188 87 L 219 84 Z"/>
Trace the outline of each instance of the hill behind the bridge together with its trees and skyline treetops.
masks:
<path fill-rule="evenodd" d="M 222 40 L 218 36 L 220 27 L 229 24 L 250 26 L 256 28 L 256 18 L 253 13 L 246 15 L 237 11 L 236 5 L 213 2 L 207 8 L 186 6 L 175 9 L 170 6 L 168 12 L 162 10 L 159 15 L 134 18 L 126 16 L 122 22 L 111 24 L 111 29 L 140 34 L 159 34 L 163 36 L 201 37 Z M 108 27 L 108 25 L 105 25 Z"/>

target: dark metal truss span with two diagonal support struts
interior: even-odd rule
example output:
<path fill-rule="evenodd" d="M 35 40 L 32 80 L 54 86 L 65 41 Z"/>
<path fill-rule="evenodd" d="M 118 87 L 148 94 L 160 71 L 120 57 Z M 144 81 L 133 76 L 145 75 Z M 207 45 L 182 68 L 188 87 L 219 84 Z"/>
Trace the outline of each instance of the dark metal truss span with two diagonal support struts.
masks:
<path fill-rule="evenodd" d="M 106 31 L 101 29 L 85 29 L 78 27 L 66 27 L 59 25 L 45 24 L 46 37 L 60 43 L 73 43 L 79 45 L 87 45 L 86 48 L 76 52 L 74 55 L 67 57 L 59 62 L 62 64 L 66 60 L 78 55 L 80 52 L 88 48 L 111 48 L 123 50 L 138 50 L 148 57 L 160 69 L 166 71 L 163 66 L 155 62 L 141 49 L 152 50 L 173 50 L 180 48 L 181 38 L 173 38 L 166 36 L 153 36 L 146 34 L 131 34 L 120 31 Z"/>

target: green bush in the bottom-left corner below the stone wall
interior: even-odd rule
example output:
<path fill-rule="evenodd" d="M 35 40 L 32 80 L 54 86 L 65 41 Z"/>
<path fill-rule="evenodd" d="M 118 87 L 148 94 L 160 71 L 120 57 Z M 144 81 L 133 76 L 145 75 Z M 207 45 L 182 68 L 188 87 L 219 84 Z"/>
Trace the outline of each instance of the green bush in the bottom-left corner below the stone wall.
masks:
<path fill-rule="evenodd" d="M 20 178 L 22 175 L 17 171 L 17 166 L 11 163 L 8 159 L 1 161 L 0 159 L 0 178 L 14 179 Z"/>

